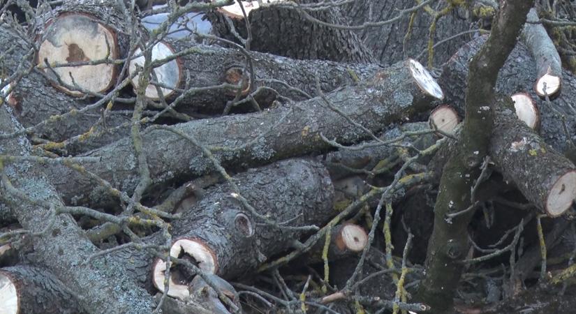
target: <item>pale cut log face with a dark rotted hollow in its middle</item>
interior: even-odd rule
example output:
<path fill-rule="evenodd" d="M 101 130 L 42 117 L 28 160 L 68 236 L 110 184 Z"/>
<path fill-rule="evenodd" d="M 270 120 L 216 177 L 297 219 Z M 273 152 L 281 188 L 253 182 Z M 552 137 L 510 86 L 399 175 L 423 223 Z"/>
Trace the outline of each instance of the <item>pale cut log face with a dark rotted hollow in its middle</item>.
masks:
<path fill-rule="evenodd" d="M 191 257 L 195 264 L 198 265 L 198 268 L 209 274 L 216 273 L 218 269 L 214 252 L 204 242 L 197 239 L 178 239 L 170 247 L 170 256 L 177 258 L 182 256 Z M 152 283 L 161 292 L 164 292 L 165 270 L 166 262 L 159 258 L 156 259 L 152 271 Z M 182 300 L 189 297 L 189 283 L 176 282 L 174 278 L 174 271 L 172 271 L 169 278 L 168 295 Z"/>

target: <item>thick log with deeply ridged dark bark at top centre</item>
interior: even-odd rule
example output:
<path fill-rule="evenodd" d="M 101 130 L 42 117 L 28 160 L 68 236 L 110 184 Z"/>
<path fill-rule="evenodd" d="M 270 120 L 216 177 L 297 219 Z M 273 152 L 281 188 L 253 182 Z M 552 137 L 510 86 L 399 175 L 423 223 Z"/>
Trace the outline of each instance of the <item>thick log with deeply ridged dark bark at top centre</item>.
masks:
<path fill-rule="evenodd" d="M 304 0 L 299 3 L 316 3 Z M 270 6 L 252 10 L 249 21 L 252 30 L 251 50 L 269 52 L 295 59 L 322 59 L 332 61 L 370 62 L 370 50 L 352 31 L 326 27 L 307 20 L 295 8 Z M 346 24 L 340 8 L 330 8 L 308 13 L 311 17 L 330 24 Z M 224 38 L 235 40 L 224 17 L 216 13 L 211 18 L 212 27 Z M 247 38 L 244 20 L 236 20 L 235 29 Z"/>

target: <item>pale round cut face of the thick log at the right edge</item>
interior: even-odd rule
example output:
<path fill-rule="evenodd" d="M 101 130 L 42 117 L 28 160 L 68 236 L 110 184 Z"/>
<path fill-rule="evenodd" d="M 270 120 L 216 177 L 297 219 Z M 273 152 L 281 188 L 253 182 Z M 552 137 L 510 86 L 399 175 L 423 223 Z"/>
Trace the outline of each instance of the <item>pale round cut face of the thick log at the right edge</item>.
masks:
<path fill-rule="evenodd" d="M 550 189 L 546 200 L 546 213 L 557 217 L 564 214 L 576 199 L 576 170 L 561 175 Z"/>

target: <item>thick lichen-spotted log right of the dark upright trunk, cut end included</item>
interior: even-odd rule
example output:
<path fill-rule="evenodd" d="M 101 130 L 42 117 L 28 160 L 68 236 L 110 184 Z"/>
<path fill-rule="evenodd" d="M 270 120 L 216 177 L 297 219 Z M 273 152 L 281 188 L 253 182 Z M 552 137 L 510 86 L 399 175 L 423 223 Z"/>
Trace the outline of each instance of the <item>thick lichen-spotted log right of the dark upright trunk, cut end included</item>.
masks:
<path fill-rule="evenodd" d="M 502 109 L 495 116 L 490 156 L 526 199 L 548 216 L 560 216 L 576 198 L 576 167 L 516 119 L 508 99 L 497 104 Z"/>

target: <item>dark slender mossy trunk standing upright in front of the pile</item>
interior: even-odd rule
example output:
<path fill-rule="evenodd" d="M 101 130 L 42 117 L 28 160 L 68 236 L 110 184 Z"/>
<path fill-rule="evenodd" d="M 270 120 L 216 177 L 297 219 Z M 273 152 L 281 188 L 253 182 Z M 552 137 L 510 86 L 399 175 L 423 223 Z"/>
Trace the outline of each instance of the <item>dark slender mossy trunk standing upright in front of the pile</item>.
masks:
<path fill-rule="evenodd" d="M 502 2 L 489 39 L 470 61 L 460 145 L 443 169 L 434 207 L 426 276 L 418 290 L 418 299 L 431 306 L 432 313 L 453 312 L 452 298 L 463 271 L 461 260 L 468 252 L 468 224 L 474 211 L 452 220 L 447 220 L 446 214 L 463 211 L 475 201 L 471 200 L 471 188 L 480 176 L 482 159 L 488 153 L 498 70 L 514 48 L 532 5 L 531 1 L 523 0 Z"/>

